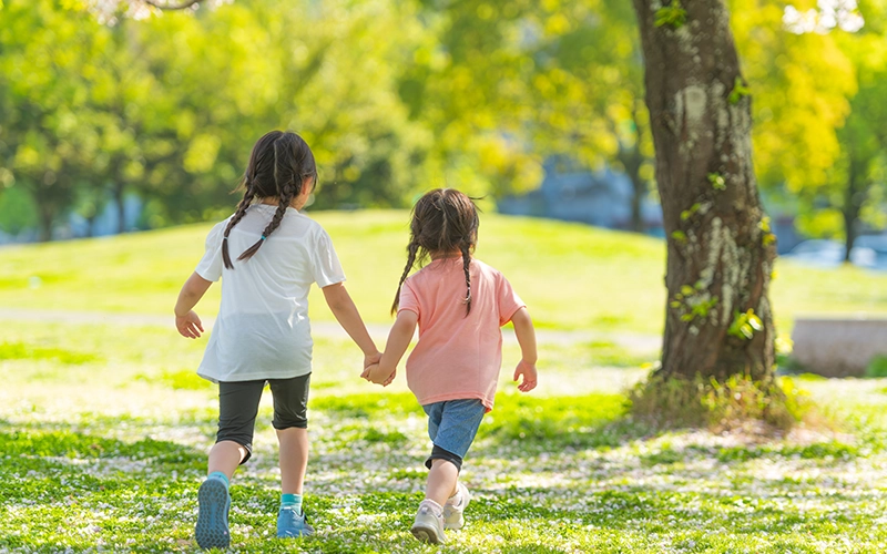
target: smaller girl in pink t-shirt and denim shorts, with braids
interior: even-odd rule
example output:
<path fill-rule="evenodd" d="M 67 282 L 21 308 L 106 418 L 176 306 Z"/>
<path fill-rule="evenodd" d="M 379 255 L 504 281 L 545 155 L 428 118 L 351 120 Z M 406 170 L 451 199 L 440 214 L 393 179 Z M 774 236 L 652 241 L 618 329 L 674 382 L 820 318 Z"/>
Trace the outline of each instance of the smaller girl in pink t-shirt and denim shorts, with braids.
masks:
<path fill-rule="evenodd" d="M 536 388 L 536 334 L 526 305 L 501 273 L 472 259 L 478 237 L 473 202 L 452 188 L 431 191 L 416 203 L 407 267 L 391 312 L 397 319 L 378 365 L 361 377 L 388 384 L 416 325 L 419 341 L 407 360 L 407 384 L 428 414 L 434 448 L 425 500 L 410 530 L 420 541 L 442 543 L 445 529 L 461 529 L 471 496 L 459 482 L 462 459 L 480 421 L 492 410 L 502 363 L 500 327 L 514 324 L 521 360 L 518 389 Z M 407 278 L 416 260 L 431 261 Z"/>

